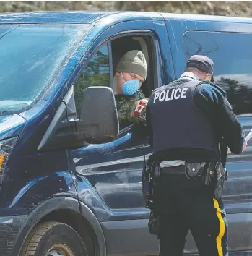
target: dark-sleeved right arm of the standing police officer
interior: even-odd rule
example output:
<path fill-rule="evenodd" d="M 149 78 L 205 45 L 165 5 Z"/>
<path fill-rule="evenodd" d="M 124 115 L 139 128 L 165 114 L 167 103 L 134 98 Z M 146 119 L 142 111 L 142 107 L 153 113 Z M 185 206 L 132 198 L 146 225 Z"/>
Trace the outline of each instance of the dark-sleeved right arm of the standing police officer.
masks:
<path fill-rule="evenodd" d="M 244 132 L 233 113 L 225 95 L 211 85 L 199 85 L 194 93 L 194 103 L 213 122 L 225 137 L 232 153 L 239 154 L 243 149 Z"/>

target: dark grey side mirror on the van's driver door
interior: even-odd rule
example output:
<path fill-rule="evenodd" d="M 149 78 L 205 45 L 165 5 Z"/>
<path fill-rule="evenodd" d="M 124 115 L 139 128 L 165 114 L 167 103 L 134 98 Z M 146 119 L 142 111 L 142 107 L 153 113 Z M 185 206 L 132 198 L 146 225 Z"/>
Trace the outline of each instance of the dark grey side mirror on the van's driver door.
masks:
<path fill-rule="evenodd" d="M 88 143 L 105 143 L 116 140 L 119 134 L 118 113 L 113 90 L 92 86 L 84 90 L 77 132 L 84 132 Z"/>

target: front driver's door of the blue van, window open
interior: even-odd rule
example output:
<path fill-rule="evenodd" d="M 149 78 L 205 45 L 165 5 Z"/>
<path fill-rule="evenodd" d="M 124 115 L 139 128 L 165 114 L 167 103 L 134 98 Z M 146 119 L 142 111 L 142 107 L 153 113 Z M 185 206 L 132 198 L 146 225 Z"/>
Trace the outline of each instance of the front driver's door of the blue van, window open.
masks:
<path fill-rule="evenodd" d="M 123 46 L 120 42 L 124 42 Z M 119 60 L 118 54 L 124 54 L 126 49 L 141 50 L 147 59 L 148 76 L 141 88 L 147 98 L 154 88 L 174 77 L 173 69 L 167 72 L 172 61 L 162 20 L 119 23 L 103 33 L 100 44 L 74 83 L 77 111 L 87 86 L 113 88 L 114 58 Z M 142 197 L 144 153 L 151 150 L 141 124 L 123 127 L 113 142 L 71 150 L 79 200 L 88 205 L 101 222 L 108 255 L 132 252 L 155 255 L 158 252 L 157 238 L 149 234 L 149 210 Z"/>

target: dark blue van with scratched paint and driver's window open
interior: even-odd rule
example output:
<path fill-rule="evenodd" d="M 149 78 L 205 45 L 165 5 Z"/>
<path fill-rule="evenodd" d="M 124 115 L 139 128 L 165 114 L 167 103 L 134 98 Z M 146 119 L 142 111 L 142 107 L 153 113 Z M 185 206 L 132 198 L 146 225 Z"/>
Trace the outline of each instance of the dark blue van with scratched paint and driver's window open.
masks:
<path fill-rule="evenodd" d="M 252 19 L 152 12 L 0 14 L 0 255 L 157 255 L 142 197 L 143 127 L 118 127 L 113 68 L 132 49 L 151 91 L 214 61 L 252 127 Z M 175 110 L 174 110 L 175 111 Z M 185 131 L 186 132 L 186 131 Z M 252 255 L 252 145 L 230 154 L 230 255 Z M 191 234 L 185 253 L 196 255 Z"/>

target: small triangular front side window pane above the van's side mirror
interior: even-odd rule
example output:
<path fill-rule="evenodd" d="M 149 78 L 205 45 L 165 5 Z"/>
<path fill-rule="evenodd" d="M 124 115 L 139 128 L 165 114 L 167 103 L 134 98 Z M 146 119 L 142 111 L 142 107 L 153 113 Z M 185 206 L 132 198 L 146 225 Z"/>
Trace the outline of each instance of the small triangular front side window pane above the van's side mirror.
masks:
<path fill-rule="evenodd" d="M 108 46 L 102 46 L 90 59 L 87 66 L 82 70 L 74 85 L 74 98 L 77 114 L 81 108 L 84 90 L 90 86 L 110 87 L 110 67 L 108 58 Z"/>

